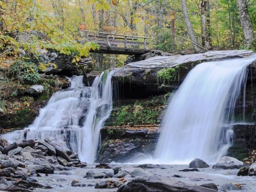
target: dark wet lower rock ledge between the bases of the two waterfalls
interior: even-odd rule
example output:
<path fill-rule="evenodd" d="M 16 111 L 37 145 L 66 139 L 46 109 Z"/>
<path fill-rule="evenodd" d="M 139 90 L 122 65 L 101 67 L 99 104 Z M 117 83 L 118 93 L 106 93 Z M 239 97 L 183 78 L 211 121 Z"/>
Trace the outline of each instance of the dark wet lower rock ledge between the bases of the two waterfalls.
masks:
<path fill-rule="evenodd" d="M 101 163 L 122 163 L 151 154 L 158 135 L 156 128 L 104 127 L 101 129 L 102 146 L 98 152 L 98 160 Z"/>

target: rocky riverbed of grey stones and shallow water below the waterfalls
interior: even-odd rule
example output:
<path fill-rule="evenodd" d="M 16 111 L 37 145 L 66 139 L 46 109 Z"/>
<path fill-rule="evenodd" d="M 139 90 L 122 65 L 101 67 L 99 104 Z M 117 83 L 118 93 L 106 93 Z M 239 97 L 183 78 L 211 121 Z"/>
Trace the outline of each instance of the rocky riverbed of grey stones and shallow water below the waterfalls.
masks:
<path fill-rule="evenodd" d="M 0 142 L 0 190 L 22 192 L 255 192 L 256 163 L 86 164 L 50 140 Z M 240 169 L 240 170 L 239 170 Z M 240 176 L 237 176 L 240 175 Z M 243 176 L 242 176 L 243 175 Z"/>

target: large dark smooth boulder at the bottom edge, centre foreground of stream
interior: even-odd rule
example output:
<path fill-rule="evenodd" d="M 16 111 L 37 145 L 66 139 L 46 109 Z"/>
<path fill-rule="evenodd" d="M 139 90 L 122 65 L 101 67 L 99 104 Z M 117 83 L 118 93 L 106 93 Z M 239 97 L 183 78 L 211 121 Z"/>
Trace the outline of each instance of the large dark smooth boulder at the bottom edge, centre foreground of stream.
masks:
<path fill-rule="evenodd" d="M 216 192 L 203 186 L 192 186 L 176 179 L 156 176 L 136 177 L 123 184 L 116 192 Z"/>

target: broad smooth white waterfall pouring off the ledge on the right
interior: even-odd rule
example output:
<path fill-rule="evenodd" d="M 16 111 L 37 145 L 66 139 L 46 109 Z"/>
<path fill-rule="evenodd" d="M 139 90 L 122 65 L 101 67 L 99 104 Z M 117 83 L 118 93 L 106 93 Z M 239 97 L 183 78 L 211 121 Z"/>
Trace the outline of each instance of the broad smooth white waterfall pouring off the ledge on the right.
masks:
<path fill-rule="evenodd" d="M 194 158 L 215 163 L 227 153 L 234 109 L 239 96 L 245 98 L 247 66 L 255 60 L 254 55 L 205 62 L 189 72 L 163 116 L 154 154 L 159 163 L 188 164 Z"/>

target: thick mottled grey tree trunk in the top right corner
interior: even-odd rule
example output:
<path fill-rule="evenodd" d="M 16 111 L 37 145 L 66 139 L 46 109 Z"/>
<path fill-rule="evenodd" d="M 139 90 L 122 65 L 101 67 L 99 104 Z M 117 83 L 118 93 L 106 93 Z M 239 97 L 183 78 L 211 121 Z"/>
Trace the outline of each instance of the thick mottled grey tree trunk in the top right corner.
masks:
<path fill-rule="evenodd" d="M 244 32 L 245 44 L 250 45 L 254 39 L 254 32 L 247 9 L 247 0 L 236 0 L 241 26 Z"/>

